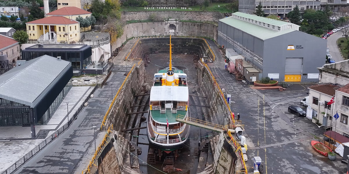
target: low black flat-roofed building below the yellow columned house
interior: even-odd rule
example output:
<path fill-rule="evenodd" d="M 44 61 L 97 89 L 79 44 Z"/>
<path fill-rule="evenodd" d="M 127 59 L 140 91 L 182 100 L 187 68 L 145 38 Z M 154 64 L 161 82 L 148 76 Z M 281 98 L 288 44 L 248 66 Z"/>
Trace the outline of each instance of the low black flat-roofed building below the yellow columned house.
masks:
<path fill-rule="evenodd" d="M 74 70 L 81 70 L 91 64 L 92 48 L 78 44 L 37 44 L 22 50 L 22 60 L 49 55 L 60 56 L 62 60 L 72 62 Z"/>

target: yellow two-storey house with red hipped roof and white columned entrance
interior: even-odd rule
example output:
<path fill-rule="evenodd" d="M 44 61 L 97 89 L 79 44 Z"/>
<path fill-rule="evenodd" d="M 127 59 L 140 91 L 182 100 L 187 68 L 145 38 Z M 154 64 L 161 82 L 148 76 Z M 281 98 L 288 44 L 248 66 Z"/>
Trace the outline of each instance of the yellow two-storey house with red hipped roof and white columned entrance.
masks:
<path fill-rule="evenodd" d="M 50 16 L 26 23 L 29 40 L 70 44 L 80 40 L 80 23 L 63 16 Z"/>

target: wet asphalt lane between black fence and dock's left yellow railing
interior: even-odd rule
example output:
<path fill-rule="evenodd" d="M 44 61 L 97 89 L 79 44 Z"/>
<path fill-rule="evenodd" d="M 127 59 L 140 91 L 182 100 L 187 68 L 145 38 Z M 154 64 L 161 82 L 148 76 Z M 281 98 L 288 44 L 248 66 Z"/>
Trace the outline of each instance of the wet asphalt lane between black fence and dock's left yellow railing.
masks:
<path fill-rule="evenodd" d="M 94 139 L 92 126 L 97 126 L 97 132 L 111 103 L 112 95 L 109 82 L 113 82 L 113 89 L 117 90 L 125 79 L 125 72 L 122 71 L 130 68 L 131 66 L 114 65 L 106 85 L 96 90 L 94 97 L 88 101 L 89 104 L 83 108 L 73 124 L 15 173 L 73 173 L 74 167 L 79 163 Z M 77 173 L 81 173 L 81 171 L 77 171 Z"/>

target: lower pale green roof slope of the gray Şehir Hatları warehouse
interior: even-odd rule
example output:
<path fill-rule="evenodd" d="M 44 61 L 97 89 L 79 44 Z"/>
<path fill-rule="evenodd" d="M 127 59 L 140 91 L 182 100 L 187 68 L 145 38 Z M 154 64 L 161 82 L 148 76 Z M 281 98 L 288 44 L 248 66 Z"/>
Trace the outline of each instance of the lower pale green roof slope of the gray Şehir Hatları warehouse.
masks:
<path fill-rule="evenodd" d="M 259 25 L 254 25 L 251 22 L 242 21 L 232 16 L 220 19 L 219 21 L 227 25 L 230 25 L 236 29 L 239 29 L 247 34 L 251 34 L 254 37 L 257 37 L 262 40 L 266 40 L 282 34 L 290 33 L 292 31 L 297 31 L 295 29 L 287 29 L 283 31 L 271 30 Z"/>

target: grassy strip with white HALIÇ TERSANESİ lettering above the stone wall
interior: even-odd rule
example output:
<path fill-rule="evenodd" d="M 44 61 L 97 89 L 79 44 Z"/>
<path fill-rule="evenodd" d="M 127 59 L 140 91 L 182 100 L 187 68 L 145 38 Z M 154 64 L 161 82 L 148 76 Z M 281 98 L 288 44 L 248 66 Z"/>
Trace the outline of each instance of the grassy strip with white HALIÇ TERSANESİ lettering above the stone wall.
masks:
<path fill-rule="evenodd" d="M 181 9 L 180 3 L 178 3 L 177 9 L 144 9 L 144 7 L 121 7 L 122 11 L 218 11 L 221 13 L 232 13 L 232 9 L 228 9 L 225 6 L 230 3 L 221 3 L 221 2 L 213 2 L 208 7 L 204 7 L 203 5 L 196 5 L 187 7 L 187 9 Z M 220 7 L 218 7 L 218 5 Z M 191 9 L 188 9 L 191 8 Z"/>

